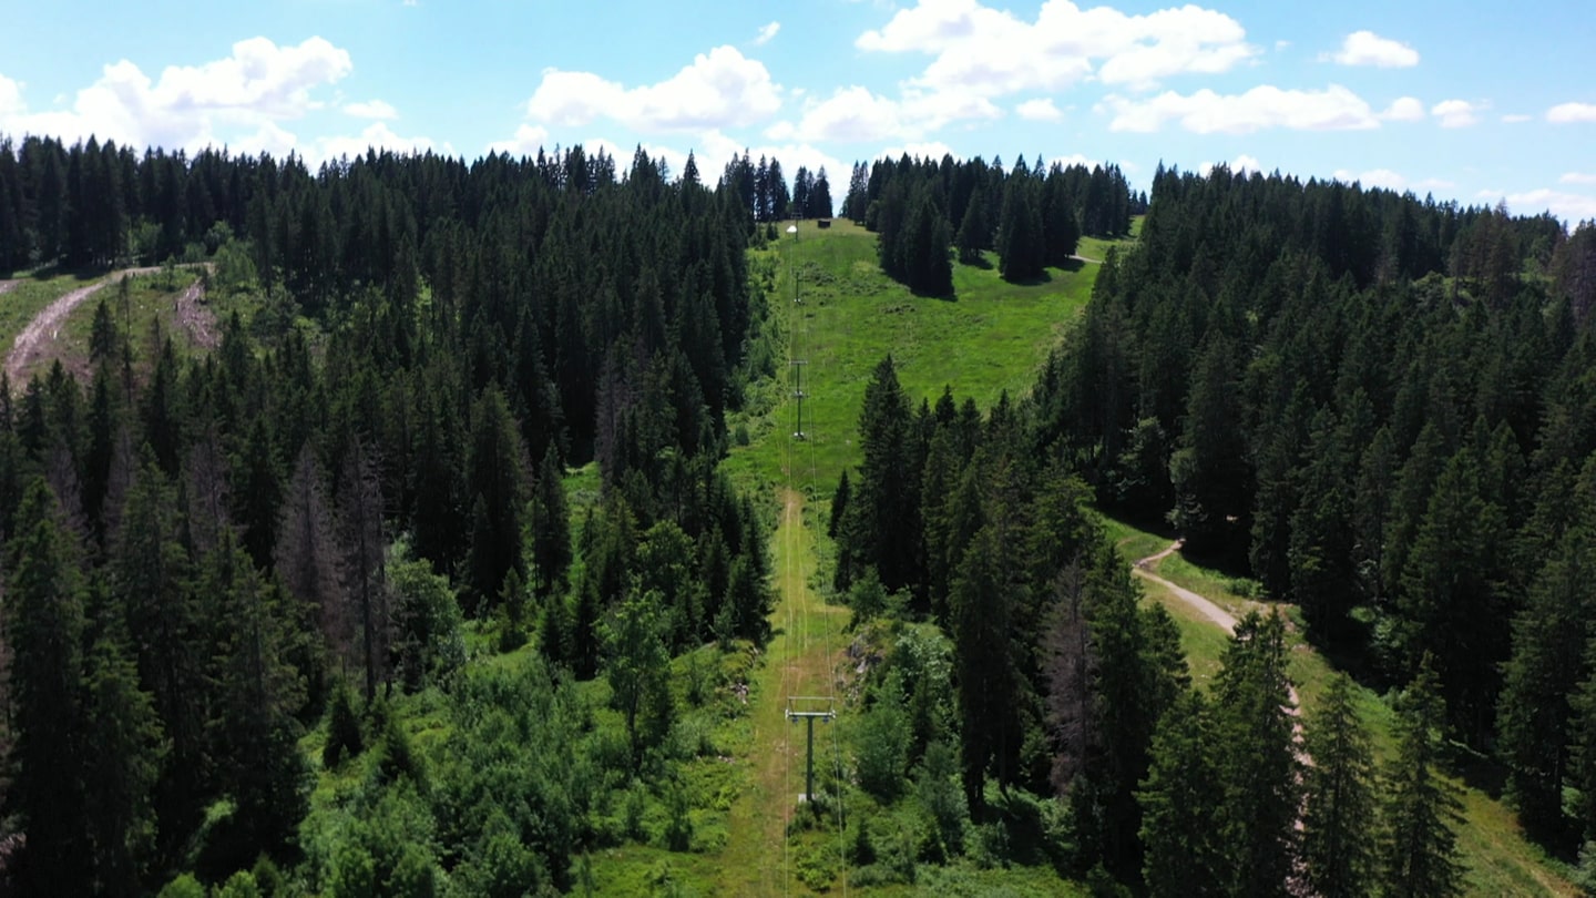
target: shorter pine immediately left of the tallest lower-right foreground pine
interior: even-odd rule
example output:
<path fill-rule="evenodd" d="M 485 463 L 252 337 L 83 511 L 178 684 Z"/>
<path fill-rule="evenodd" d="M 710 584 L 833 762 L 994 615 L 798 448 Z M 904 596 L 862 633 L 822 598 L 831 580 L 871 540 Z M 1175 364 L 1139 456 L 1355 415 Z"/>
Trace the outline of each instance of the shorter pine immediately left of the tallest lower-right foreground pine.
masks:
<path fill-rule="evenodd" d="M 1187 690 L 1159 722 L 1141 804 L 1141 866 L 1148 895 L 1224 895 L 1229 884 L 1219 826 L 1224 786 L 1211 711 Z"/>

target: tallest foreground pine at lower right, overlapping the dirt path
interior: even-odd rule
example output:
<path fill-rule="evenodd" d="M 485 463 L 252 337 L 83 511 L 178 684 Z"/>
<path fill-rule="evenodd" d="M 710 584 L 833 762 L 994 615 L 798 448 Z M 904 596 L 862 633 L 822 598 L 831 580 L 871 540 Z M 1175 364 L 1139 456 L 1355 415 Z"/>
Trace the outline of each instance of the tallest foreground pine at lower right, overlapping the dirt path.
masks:
<path fill-rule="evenodd" d="M 1227 882 L 1235 895 L 1285 895 L 1302 793 L 1278 614 L 1251 612 L 1235 625 L 1216 689 Z"/>

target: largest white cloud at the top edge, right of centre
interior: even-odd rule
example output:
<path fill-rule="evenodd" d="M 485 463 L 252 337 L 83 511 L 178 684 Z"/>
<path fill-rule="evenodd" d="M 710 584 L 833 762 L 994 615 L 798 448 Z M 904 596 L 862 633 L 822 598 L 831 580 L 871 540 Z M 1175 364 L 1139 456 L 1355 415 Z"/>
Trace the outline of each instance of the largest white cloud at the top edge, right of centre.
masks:
<path fill-rule="evenodd" d="M 1001 96 L 1061 89 L 1088 77 L 1140 91 L 1171 75 L 1227 72 L 1259 53 L 1245 37 L 1231 16 L 1194 5 L 1127 16 L 1047 0 L 1029 22 L 978 0 L 919 0 L 854 43 L 934 56 L 916 86 Z"/>

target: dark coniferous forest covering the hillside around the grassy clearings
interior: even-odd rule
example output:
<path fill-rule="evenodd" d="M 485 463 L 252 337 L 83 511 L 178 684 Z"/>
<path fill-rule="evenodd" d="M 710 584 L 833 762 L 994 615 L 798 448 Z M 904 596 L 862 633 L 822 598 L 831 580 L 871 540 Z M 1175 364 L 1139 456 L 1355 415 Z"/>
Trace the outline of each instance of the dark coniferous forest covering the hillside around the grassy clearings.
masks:
<path fill-rule="evenodd" d="M 0 893 L 718 893 L 752 804 L 814 892 L 1454 895 L 1460 781 L 1596 884 L 1596 225 L 1023 157 L 838 195 L 0 141 L 0 273 L 249 310 L 192 352 L 107 291 L 81 368 L 0 379 Z M 809 497 L 851 719 L 792 813 L 726 785 L 792 586 L 725 462 L 833 213 L 913 302 L 1096 268 L 1025 391 L 855 372 Z M 1211 676 L 1112 521 L 1250 593 Z"/>

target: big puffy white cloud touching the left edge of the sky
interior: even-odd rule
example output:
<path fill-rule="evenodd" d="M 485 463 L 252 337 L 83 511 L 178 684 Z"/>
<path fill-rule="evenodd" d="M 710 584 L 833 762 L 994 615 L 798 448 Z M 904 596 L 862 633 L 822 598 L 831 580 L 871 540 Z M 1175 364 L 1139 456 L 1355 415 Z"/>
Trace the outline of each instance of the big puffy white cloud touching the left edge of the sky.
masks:
<path fill-rule="evenodd" d="M 297 46 L 278 46 L 263 37 L 241 40 L 225 59 L 168 66 L 158 80 L 123 59 L 80 89 L 70 109 L 27 112 L 19 86 L 6 80 L 0 85 L 0 129 L 198 149 L 231 142 L 249 129 L 268 133 L 267 125 L 321 109 L 313 91 L 353 67 L 348 51 L 319 37 Z M 271 137 L 281 141 L 281 134 L 278 128 Z"/>

